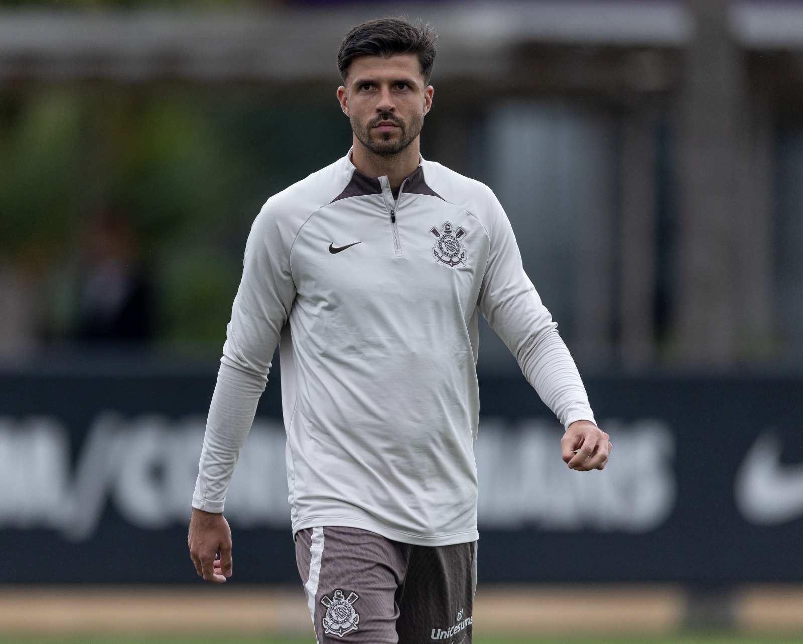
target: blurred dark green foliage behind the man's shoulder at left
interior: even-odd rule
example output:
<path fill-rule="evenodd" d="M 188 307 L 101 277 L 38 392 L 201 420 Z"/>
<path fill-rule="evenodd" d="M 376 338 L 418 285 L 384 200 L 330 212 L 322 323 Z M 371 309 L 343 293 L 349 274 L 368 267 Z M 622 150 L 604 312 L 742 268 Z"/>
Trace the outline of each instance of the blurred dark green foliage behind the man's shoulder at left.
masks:
<path fill-rule="evenodd" d="M 92 222 L 124 214 L 155 288 L 155 338 L 217 354 L 251 222 L 349 149 L 324 96 L 110 86 L 0 101 L 0 264 L 44 286 L 46 335 L 75 336 Z M 32 297 L 39 287 L 29 289 Z"/>

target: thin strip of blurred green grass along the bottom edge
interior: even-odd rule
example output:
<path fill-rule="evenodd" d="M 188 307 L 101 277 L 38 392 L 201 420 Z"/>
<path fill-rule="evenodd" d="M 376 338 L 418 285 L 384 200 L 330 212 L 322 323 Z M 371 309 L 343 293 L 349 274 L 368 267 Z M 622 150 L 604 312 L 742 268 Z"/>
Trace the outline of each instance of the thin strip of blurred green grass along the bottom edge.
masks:
<path fill-rule="evenodd" d="M 475 638 L 475 644 L 803 644 L 803 635 L 763 636 L 741 635 L 675 635 L 670 637 L 622 636 L 605 638 Z M 0 644 L 315 644 L 306 638 L 248 638 L 208 637 L 183 638 L 170 636 L 125 637 L 92 636 L 80 637 L 3 637 Z"/>

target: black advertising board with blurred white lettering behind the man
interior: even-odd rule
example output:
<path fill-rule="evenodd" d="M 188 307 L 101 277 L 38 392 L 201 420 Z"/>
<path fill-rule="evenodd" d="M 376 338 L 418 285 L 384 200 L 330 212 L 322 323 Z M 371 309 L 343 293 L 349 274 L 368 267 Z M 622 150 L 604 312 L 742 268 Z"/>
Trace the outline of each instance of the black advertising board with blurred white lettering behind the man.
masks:
<path fill-rule="evenodd" d="M 613 455 L 569 471 L 523 378 L 483 379 L 481 581 L 803 581 L 803 378 L 586 381 Z M 214 375 L 0 376 L 2 582 L 197 579 L 185 527 Z M 297 580 L 278 378 L 226 502 L 234 580 Z"/>

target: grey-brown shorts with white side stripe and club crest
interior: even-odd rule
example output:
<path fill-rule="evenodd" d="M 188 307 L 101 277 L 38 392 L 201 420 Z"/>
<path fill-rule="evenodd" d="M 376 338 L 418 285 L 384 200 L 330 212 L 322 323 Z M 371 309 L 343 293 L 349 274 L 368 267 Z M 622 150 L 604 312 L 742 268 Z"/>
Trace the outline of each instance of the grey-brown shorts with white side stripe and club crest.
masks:
<path fill-rule="evenodd" d="M 402 544 L 360 528 L 296 533 L 319 644 L 471 644 L 477 542 Z"/>

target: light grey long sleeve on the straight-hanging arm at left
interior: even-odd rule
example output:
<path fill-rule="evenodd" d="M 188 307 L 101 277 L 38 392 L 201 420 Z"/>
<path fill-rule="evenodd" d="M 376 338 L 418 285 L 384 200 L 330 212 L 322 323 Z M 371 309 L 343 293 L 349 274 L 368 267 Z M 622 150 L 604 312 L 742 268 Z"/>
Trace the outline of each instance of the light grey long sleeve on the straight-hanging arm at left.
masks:
<path fill-rule="evenodd" d="M 287 250 L 290 244 L 270 204 L 263 208 L 248 237 L 243 279 L 226 328 L 206 421 L 193 495 L 193 507 L 206 512 L 223 512 L 234 466 L 267 383 L 271 357 L 296 297 Z"/>

